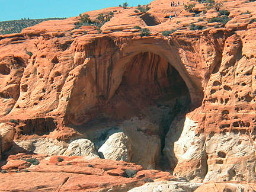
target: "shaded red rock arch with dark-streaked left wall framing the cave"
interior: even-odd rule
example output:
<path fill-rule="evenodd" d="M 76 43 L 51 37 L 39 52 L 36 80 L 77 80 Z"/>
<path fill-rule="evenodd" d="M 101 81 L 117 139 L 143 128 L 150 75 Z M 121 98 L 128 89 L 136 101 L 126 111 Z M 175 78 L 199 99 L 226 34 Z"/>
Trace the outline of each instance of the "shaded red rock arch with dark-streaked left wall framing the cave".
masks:
<path fill-rule="evenodd" d="M 126 41 L 126 43 L 122 41 Z M 75 55 L 90 59 L 82 59 L 85 60 L 84 64 L 79 62 L 80 65 L 69 73 L 70 78 L 68 77 L 67 80 L 76 79 L 71 94 L 67 94 L 71 90 L 71 86 L 68 84 L 71 84 L 69 81 L 73 80 L 66 81 L 65 84 L 68 87 L 63 85 L 59 109 L 65 109 L 66 123 L 81 125 L 94 119 L 98 110 L 105 108 L 121 84 L 130 60 L 141 53 L 158 55 L 159 58 L 161 57 L 173 66 L 187 85 L 191 106 L 196 108 L 201 105 L 203 99 L 201 81 L 196 73 L 185 67 L 179 44 L 173 43 L 171 40 L 142 38 L 113 41 L 109 37 L 101 37 L 86 44 L 75 44 L 75 46 L 81 47 L 80 50 L 76 49 Z M 62 106 L 61 100 L 67 107 Z M 76 113 L 78 111 L 79 113 Z M 78 119 L 77 122 L 76 119 Z"/>

